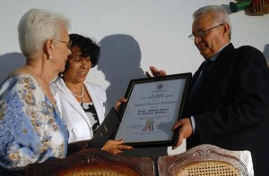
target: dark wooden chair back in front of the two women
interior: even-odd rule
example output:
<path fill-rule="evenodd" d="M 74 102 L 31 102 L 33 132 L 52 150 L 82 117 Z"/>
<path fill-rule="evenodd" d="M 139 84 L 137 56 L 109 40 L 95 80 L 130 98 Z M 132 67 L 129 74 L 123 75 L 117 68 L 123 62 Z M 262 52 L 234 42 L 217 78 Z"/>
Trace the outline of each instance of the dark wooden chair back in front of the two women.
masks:
<path fill-rule="evenodd" d="M 26 176 L 153 176 L 154 163 L 147 157 L 109 155 L 100 149 L 85 149 L 65 159 L 31 163 Z"/>

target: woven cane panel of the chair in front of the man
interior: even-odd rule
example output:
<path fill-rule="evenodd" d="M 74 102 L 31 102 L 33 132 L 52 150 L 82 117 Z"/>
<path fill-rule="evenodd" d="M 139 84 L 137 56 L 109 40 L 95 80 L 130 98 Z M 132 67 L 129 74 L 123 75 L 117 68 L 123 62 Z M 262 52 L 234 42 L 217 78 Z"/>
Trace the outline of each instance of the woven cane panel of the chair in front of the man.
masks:
<path fill-rule="evenodd" d="M 238 176 L 240 172 L 230 163 L 197 162 L 191 163 L 179 170 L 177 176 Z"/>

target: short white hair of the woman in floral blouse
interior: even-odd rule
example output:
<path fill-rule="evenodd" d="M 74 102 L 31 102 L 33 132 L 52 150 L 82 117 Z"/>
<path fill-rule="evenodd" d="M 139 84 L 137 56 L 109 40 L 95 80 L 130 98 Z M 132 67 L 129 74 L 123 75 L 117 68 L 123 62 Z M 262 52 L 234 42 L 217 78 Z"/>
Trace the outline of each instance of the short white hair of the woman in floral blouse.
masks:
<path fill-rule="evenodd" d="M 69 21 L 63 15 L 30 9 L 22 16 L 18 26 L 22 53 L 27 59 L 34 58 L 49 38 L 60 38 L 63 28 L 69 28 Z"/>

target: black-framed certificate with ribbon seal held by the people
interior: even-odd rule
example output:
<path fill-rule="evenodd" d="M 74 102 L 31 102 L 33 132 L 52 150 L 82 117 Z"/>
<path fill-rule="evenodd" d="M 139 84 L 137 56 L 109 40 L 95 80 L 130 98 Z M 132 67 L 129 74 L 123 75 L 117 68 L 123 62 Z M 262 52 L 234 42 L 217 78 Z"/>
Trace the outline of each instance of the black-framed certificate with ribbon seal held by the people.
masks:
<path fill-rule="evenodd" d="M 127 102 L 114 139 L 132 147 L 168 147 L 177 143 L 172 127 L 181 113 L 192 74 L 130 80 Z"/>

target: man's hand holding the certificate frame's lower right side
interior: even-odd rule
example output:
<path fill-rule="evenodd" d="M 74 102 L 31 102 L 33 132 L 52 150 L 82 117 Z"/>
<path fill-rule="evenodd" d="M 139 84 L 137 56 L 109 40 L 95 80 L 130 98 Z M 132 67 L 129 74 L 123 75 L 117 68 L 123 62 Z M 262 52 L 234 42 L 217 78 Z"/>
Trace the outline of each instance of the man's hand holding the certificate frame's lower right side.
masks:
<path fill-rule="evenodd" d="M 178 144 L 172 149 L 178 148 L 183 141 L 183 138 L 188 138 L 193 133 L 193 127 L 190 118 L 184 118 L 176 122 L 172 130 L 178 129 Z"/>

